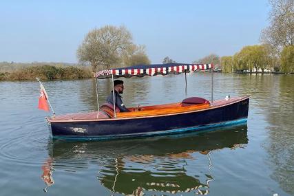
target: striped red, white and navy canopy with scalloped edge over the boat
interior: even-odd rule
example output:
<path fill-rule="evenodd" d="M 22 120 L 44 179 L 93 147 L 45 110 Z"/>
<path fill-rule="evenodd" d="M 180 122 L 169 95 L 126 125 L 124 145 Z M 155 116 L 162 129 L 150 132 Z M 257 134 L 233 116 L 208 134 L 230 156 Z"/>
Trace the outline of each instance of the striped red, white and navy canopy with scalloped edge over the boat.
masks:
<path fill-rule="evenodd" d="M 132 76 L 156 76 L 167 74 L 180 74 L 183 72 L 194 72 L 198 69 L 210 69 L 213 64 L 185 64 L 185 63 L 167 63 L 167 64 L 153 64 L 153 65 L 134 65 L 130 67 L 104 69 L 96 72 L 94 77 L 98 79 L 111 78 L 130 78 Z"/>

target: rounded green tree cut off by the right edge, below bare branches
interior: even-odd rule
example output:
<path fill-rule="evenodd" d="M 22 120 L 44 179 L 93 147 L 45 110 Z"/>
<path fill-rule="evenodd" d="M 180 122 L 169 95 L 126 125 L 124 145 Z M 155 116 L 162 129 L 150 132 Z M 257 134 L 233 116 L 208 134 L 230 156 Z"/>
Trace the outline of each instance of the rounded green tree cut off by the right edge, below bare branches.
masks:
<path fill-rule="evenodd" d="M 282 72 L 294 72 L 294 45 L 284 47 L 281 54 Z"/>

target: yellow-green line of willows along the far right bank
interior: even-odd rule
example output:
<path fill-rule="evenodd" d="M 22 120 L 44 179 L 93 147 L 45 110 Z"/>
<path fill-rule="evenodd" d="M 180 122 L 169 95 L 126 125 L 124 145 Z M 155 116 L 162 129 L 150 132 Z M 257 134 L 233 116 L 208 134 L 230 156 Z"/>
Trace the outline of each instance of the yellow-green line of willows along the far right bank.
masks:
<path fill-rule="evenodd" d="M 267 45 L 248 45 L 233 56 L 218 56 L 209 54 L 193 63 L 213 63 L 222 69 L 222 72 L 294 72 L 294 46 L 283 48 L 280 56 L 272 56 Z"/>

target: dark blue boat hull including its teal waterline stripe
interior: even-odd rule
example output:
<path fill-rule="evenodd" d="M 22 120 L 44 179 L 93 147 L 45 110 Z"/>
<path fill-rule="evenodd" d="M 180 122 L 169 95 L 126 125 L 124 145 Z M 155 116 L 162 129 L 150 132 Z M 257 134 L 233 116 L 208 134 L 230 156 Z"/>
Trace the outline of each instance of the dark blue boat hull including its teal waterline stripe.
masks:
<path fill-rule="evenodd" d="M 50 121 L 52 137 L 56 139 L 104 140 L 138 136 L 182 133 L 222 127 L 245 122 L 249 111 L 249 97 L 201 111 L 93 121 Z"/>

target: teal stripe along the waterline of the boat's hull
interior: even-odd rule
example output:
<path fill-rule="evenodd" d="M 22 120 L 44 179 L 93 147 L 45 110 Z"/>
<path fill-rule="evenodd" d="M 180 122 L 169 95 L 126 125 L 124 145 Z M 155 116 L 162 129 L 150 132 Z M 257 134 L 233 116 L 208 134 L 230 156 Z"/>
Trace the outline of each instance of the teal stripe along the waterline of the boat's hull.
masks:
<path fill-rule="evenodd" d="M 242 118 L 233 121 L 220 122 L 216 124 L 207 124 L 200 127 L 188 127 L 182 129 L 172 129 L 167 131 L 156 131 L 156 132 L 147 132 L 147 133 L 134 133 L 134 134 L 124 134 L 124 135 L 105 135 L 105 136 L 52 136 L 56 140 L 114 140 L 120 138 L 139 138 L 139 137 L 151 137 L 157 135 L 171 135 L 176 133 L 187 133 L 191 131 L 213 131 L 217 127 L 227 127 L 233 126 L 235 124 L 242 124 L 247 122 L 247 118 Z"/>

